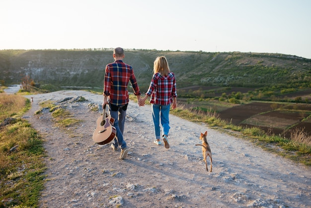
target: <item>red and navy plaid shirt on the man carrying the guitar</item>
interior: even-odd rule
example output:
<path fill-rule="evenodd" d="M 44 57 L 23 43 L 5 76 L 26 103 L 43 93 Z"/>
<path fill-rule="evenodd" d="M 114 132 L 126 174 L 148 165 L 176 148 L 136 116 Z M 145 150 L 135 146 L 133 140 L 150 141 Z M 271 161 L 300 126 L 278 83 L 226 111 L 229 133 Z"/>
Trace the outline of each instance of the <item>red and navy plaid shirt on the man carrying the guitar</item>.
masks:
<path fill-rule="evenodd" d="M 131 82 L 134 94 L 140 96 L 140 90 L 133 68 L 122 60 L 108 64 L 105 69 L 104 96 L 109 96 L 111 104 L 121 106 L 129 103 L 127 86 Z"/>

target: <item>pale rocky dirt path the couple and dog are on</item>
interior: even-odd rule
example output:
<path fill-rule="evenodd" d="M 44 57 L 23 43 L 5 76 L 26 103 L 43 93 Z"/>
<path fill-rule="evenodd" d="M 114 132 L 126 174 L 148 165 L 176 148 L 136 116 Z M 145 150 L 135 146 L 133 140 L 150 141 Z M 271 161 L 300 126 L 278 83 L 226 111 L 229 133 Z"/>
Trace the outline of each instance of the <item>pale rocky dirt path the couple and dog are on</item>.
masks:
<path fill-rule="evenodd" d="M 82 96 L 87 102 L 75 102 Z M 151 106 L 130 102 L 124 137 L 128 157 L 92 141 L 102 96 L 59 91 L 34 97 L 24 118 L 45 138 L 47 177 L 40 207 L 57 208 L 310 208 L 311 168 L 265 152 L 252 143 L 204 124 L 170 115 L 170 148 L 156 146 Z M 65 101 L 65 100 L 66 101 Z M 82 121 L 62 130 L 44 101 L 57 103 Z M 213 172 L 205 170 L 200 132 L 208 131 Z"/>

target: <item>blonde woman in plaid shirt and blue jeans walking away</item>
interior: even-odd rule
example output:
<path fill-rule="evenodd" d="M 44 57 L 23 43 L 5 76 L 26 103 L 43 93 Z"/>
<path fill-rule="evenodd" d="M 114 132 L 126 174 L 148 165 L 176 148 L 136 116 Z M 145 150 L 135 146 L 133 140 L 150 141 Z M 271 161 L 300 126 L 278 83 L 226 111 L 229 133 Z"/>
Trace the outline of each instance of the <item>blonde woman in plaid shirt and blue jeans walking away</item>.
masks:
<path fill-rule="evenodd" d="M 152 77 L 148 92 L 145 98 L 140 101 L 144 105 L 148 97 L 151 97 L 152 118 L 155 128 L 155 144 L 161 145 L 160 141 L 160 119 L 162 125 L 162 137 L 164 146 L 169 148 L 167 139 L 169 126 L 169 108 L 176 108 L 176 81 L 174 73 L 170 72 L 167 60 L 164 56 L 159 56 L 154 62 L 154 75 Z"/>

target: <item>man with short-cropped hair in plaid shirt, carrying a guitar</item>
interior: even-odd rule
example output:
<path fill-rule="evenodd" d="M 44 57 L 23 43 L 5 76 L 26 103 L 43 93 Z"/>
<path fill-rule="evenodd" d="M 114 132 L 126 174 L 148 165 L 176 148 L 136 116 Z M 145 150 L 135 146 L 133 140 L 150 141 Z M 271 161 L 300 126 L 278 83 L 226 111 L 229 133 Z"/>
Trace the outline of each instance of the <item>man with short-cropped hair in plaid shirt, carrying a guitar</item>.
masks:
<path fill-rule="evenodd" d="M 116 138 L 111 147 L 114 151 L 121 148 L 120 159 L 127 156 L 128 149 L 123 138 L 124 122 L 126 109 L 129 103 L 127 86 L 131 82 L 134 94 L 137 96 L 138 103 L 141 100 L 141 93 L 134 75 L 133 68 L 123 62 L 124 50 L 120 47 L 113 51 L 114 62 L 106 66 L 104 78 L 104 101 L 103 108 L 109 103 L 111 117 L 114 118 L 113 126 L 116 128 Z M 120 113 L 120 115 L 119 115 Z"/>

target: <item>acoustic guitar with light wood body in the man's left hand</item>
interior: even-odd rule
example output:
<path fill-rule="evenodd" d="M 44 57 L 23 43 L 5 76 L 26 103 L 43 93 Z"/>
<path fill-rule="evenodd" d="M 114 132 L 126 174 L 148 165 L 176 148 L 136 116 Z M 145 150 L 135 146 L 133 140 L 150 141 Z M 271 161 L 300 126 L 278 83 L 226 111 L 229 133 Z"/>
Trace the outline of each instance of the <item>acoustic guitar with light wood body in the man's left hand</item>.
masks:
<path fill-rule="evenodd" d="M 116 128 L 113 125 L 114 118 L 106 115 L 106 105 L 103 107 L 103 114 L 97 118 L 97 127 L 93 132 L 93 141 L 98 144 L 107 144 L 114 139 Z"/>

